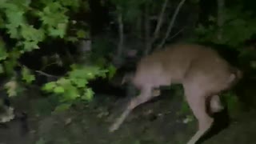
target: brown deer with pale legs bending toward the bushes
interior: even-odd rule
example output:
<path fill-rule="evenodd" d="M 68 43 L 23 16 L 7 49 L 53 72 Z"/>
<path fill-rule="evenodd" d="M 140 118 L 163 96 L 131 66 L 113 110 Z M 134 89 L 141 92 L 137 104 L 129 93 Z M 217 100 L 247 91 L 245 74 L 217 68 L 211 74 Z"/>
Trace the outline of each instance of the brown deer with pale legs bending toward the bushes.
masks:
<path fill-rule="evenodd" d="M 214 118 L 207 113 L 206 102 L 210 103 L 212 113 L 223 110 L 219 95 L 230 90 L 242 78 L 242 70 L 231 66 L 212 47 L 198 44 L 170 44 L 142 57 L 136 68 L 134 74 L 123 78 L 123 82 L 130 79 L 140 93 L 130 100 L 110 126 L 110 133 L 119 129 L 135 107 L 158 97 L 160 86 L 180 83 L 185 100 L 198 122 L 198 130 L 187 144 L 198 142 L 213 126 Z"/>

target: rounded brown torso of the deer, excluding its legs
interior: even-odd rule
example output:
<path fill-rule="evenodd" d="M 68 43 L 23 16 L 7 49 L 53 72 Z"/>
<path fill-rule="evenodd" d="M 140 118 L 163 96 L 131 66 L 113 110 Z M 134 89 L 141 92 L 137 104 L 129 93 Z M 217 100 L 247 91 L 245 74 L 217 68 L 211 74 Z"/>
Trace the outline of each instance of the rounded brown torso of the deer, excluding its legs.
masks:
<path fill-rule="evenodd" d="M 177 44 L 142 58 L 138 63 L 135 81 L 158 86 L 183 82 L 192 76 L 221 83 L 229 75 L 230 65 L 215 50 L 194 44 Z"/>

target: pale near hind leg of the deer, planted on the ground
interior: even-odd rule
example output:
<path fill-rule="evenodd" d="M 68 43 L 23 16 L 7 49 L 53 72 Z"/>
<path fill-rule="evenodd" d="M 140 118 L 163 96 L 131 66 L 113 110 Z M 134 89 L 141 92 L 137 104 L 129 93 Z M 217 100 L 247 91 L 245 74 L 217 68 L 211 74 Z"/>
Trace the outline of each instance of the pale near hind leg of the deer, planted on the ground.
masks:
<path fill-rule="evenodd" d="M 198 120 L 198 131 L 194 134 L 187 144 L 198 142 L 202 135 L 206 134 L 213 125 L 214 118 L 211 118 L 206 112 L 206 92 L 200 90 L 196 83 L 190 83 L 184 86 L 186 101 L 192 110 L 195 118 Z"/>

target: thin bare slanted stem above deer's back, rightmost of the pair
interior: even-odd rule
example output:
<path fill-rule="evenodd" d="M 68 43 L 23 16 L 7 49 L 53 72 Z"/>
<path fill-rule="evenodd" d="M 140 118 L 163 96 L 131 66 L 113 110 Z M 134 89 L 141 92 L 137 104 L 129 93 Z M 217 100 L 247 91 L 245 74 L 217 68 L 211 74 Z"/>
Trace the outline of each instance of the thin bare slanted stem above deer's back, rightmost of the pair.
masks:
<path fill-rule="evenodd" d="M 181 2 L 178 3 L 178 6 L 174 12 L 174 16 L 171 18 L 170 24 L 168 26 L 168 29 L 166 31 L 166 36 L 165 38 L 162 39 L 162 42 L 160 42 L 160 44 L 157 46 L 157 49 L 162 48 L 162 46 L 166 43 L 166 39 L 169 37 L 170 32 L 172 30 L 172 28 L 174 27 L 174 22 L 178 16 L 178 12 L 181 9 L 181 7 L 183 6 L 183 4 L 186 2 L 186 0 L 181 0 Z"/>

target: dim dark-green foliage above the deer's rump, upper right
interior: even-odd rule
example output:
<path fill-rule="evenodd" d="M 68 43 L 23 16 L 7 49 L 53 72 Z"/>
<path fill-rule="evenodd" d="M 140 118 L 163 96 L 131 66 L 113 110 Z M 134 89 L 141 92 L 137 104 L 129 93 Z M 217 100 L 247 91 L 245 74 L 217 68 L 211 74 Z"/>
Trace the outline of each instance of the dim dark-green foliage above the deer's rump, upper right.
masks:
<path fill-rule="evenodd" d="M 222 28 L 222 38 L 218 39 L 217 18 L 210 16 L 210 26 L 198 25 L 195 32 L 198 35 L 194 41 L 212 42 L 214 44 L 241 48 L 245 42 L 253 38 L 256 34 L 256 19 L 250 11 L 245 11 L 242 7 L 226 8 L 224 11 L 225 22 Z M 241 50 L 241 49 L 240 49 Z"/>

